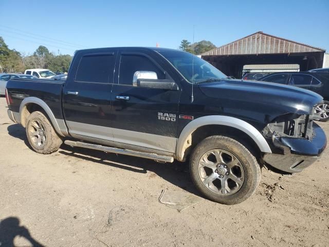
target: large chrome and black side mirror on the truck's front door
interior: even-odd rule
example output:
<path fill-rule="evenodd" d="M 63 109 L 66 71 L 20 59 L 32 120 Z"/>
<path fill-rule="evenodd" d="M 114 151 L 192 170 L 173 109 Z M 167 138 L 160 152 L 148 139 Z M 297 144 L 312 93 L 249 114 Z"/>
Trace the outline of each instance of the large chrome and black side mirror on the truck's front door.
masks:
<path fill-rule="evenodd" d="M 152 71 L 136 71 L 133 77 L 133 86 L 148 89 L 179 90 L 176 82 L 169 79 L 158 79 L 156 73 Z"/>

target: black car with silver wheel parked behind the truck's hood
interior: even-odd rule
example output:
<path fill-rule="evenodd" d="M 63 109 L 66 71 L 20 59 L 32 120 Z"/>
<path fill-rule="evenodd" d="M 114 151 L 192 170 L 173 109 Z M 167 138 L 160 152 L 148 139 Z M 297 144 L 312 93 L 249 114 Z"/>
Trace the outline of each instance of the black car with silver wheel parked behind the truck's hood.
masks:
<path fill-rule="evenodd" d="M 320 94 L 324 101 L 315 108 L 320 121 L 329 120 L 329 74 L 323 72 L 282 72 L 267 75 L 260 81 L 276 82 L 302 87 Z"/>

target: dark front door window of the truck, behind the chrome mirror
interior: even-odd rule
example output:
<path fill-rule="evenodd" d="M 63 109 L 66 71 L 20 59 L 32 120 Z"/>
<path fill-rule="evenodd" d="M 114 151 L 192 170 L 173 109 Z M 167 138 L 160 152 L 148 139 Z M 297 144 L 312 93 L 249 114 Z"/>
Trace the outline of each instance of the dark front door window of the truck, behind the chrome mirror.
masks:
<path fill-rule="evenodd" d="M 121 55 L 119 84 L 133 85 L 133 77 L 136 71 L 153 71 L 158 79 L 166 79 L 165 74 L 149 58 L 142 55 Z"/>

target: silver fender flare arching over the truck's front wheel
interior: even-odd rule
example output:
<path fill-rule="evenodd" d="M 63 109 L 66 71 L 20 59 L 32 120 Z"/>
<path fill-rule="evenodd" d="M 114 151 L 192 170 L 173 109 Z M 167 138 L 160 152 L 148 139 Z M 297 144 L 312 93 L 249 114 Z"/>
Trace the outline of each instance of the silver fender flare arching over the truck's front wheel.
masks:
<path fill-rule="evenodd" d="M 178 161 L 184 160 L 184 153 L 187 147 L 186 143 L 188 142 L 190 135 L 197 128 L 206 125 L 224 125 L 239 129 L 249 135 L 262 152 L 272 153 L 264 136 L 256 128 L 250 125 L 250 123 L 235 117 L 211 115 L 196 118 L 189 122 L 181 131 L 176 146 L 176 159 Z"/>

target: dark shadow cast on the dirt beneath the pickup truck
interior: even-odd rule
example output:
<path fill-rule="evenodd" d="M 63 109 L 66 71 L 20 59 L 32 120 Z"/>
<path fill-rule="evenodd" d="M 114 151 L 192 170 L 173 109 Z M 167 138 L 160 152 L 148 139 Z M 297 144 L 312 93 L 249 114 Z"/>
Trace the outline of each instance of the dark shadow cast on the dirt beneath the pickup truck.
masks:
<path fill-rule="evenodd" d="M 10 125 L 7 130 L 9 135 L 23 140 L 31 149 L 26 138 L 25 129 L 21 125 Z M 86 161 L 97 162 L 102 165 L 125 169 L 127 171 L 145 173 L 145 175 L 147 174 L 147 171 L 154 172 L 169 183 L 193 193 L 196 196 L 202 197 L 193 185 L 188 171 L 189 168 L 187 162 L 180 163 L 175 161 L 173 163 L 157 163 L 145 158 L 115 153 L 104 153 L 102 151 L 79 147 L 72 148 L 65 144 L 61 146 L 59 153 Z M 152 174 L 150 175 L 150 178 L 152 179 Z"/>

